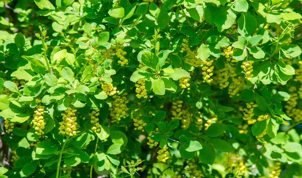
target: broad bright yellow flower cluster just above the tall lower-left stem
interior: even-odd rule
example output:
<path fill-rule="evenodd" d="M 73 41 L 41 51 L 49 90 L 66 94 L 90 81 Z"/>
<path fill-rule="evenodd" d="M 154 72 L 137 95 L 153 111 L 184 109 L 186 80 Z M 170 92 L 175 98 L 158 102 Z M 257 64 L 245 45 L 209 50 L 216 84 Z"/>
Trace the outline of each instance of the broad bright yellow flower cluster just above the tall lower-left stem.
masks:
<path fill-rule="evenodd" d="M 77 135 L 77 116 L 75 116 L 75 113 L 77 112 L 77 109 L 72 109 L 71 107 L 68 107 L 65 110 L 65 113 L 62 113 L 63 121 L 60 122 L 59 127 L 59 134 L 66 135 L 66 136 L 74 136 Z"/>

